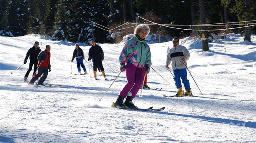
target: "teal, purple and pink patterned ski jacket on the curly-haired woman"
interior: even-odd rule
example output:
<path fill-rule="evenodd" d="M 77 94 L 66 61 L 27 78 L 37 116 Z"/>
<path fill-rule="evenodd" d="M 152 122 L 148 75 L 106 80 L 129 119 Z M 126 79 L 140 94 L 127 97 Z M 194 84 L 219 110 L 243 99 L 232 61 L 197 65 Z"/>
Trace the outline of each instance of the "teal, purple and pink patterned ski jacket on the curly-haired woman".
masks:
<path fill-rule="evenodd" d="M 128 40 L 119 56 L 121 63 L 132 63 L 138 68 L 149 67 L 151 63 L 151 53 L 146 42 L 138 40 L 137 37 Z"/>

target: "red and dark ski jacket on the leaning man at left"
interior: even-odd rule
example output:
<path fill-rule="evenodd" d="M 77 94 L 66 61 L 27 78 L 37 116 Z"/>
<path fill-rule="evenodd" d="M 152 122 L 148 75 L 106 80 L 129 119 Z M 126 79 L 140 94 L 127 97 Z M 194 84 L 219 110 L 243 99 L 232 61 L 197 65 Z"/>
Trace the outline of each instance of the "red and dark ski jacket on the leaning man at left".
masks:
<path fill-rule="evenodd" d="M 51 53 L 47 52 L 46 50 L 42 51 L 38 55 L 38 64 L 37 66 L 40 65 L 40 67 L 47 67 L 49 70 L 51 70 L 51 64 L 50 64 L 50 58 L 51 58 Z M 44 60 L 42 62 L 42 60 Z"/>

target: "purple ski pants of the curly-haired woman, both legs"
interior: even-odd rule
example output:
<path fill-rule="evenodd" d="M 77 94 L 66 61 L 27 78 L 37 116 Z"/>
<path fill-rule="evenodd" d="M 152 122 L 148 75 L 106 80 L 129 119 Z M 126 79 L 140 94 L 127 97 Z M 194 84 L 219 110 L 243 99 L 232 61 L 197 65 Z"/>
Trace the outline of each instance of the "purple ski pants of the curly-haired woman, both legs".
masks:
<path fill-rule="evenodd" d="M 125 98 L 127 94 L 131 92 L 132 98 L 135 98 L 143 82 L 143 68 L 138 68 L 131 63 L 127 63 L 125 73 L 127 84 L 123 90 L 120 91 L 120 95 Z"/>

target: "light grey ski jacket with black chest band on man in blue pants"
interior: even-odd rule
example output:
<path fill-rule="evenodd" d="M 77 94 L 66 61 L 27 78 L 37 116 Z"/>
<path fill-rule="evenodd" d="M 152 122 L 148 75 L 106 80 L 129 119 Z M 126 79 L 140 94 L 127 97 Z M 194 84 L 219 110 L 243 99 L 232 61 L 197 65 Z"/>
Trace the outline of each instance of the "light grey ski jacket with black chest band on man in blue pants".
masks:
<path fill-rule="evenodd" d="M 185 48 L 182 45 L 177 45 L 176 47 L 170 48 L 170 50 L 167 53 L 166 58 L 166 65 L 170 65 L 172 61 L 172 70 L 178 70 L 182 68 L 186 68 L 186 66 L 181 63 L 181 58 L 185 59 L 185 64 L 187 65 L 187 60 L 190 57 L 190 53 L 188 52 L 188 49 Z"/>

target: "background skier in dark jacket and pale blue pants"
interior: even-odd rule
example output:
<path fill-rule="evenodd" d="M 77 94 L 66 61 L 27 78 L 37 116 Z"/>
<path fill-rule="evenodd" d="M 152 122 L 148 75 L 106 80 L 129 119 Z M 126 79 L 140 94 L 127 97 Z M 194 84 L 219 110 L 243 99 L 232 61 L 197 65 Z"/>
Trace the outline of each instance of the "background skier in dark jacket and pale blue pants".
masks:
<path fill-rule="evenodd" d="M 84 60 L 84 51 L 79 47 L 79 44 L 78 43 L 76 43 L 76 48 L 75 48 L 75 50 L 74 50 L 74 52 L 73 52 L 73 57 L 72 57 L 72 60 L 71 60 L 71 62 L 73 63 L 73 60 L 74 60 L 74 58 L 76 57 L 76 66 L 77 66 L 77 69 L 78 69 L 78 73 L 80 74 L 80 75 L 83 75 L 82 73 L 81 73 L 81 68 L 80 68 L 80 65 L 81 65 L 81 67 L 83 68 L 83 70 L 84 70 L 84 74 L 86 75 L 87 74 L 87 72 L 86 72 L 86 68 L 85 68 L 85 66 L 84 66 L 84 63 L 83 63 L 83 60 Z"/>

